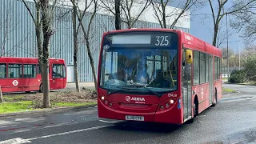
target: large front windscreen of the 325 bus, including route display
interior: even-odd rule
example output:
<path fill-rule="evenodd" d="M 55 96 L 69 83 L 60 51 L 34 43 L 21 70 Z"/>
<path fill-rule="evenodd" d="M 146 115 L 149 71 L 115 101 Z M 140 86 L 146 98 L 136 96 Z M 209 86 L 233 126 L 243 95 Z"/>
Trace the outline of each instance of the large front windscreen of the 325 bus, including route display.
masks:
<path fill-rule="evenodd" d="M 128 87 L 135 93 L 177 90 L 178 36 L 162 32 L 108 34 L 101 62 L 100 86 L 104 89 L 125 92 Z"/>

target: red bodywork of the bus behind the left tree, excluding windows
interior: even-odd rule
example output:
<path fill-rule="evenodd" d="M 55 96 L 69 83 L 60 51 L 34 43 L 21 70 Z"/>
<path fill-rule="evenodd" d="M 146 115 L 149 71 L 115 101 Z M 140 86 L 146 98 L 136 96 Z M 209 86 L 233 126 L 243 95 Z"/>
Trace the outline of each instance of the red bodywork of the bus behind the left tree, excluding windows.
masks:
<path fill-rule="evenodd" d="M 0 85 L 3 93 L 10 92 L 30 92 L 30 91 L 41 91 L 42 89 L 42 78 L 39 72 L 38 58 L 10 58 L 2 57 L 0 58 L 0 64 L 6 66 L 6 73 L 1 75 Z M 10 78 L 10 65 L 19 65 L 21 70 L 19 72 L 18 78 Z M 64 77 L 63 78 L 53 78 L 53 66 L 62 65 Z M 24 66 L 34 66 L 33 69 L 25 68 Z M 27 69 L 27 70 L 26 70 Z M 35 69 L 35 70 L 34 70 Z M 34 76 L 27 76 L 32 74 L 33 70 Z M 25 71 L 27 74 L 25 74 Z M 50 58 L 49 59 L 49 78 L 50 78 L 50 90 L 58 90 L 66 87 L 66 66 L 63 59 Z"/>

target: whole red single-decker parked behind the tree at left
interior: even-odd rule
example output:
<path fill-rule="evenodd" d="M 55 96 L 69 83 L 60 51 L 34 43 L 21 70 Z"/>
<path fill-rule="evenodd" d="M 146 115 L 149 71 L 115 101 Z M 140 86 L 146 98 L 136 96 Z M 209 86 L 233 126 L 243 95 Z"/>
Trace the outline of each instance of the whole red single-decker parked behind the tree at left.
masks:
<path fill-rule="evenodd" d="M 66 87 L 66 65 L 63 59 L 49 59 L 50 90 Z M 0 58 L 0 86 L 2 93 L 42 92 L 42 78 L 38 58 Z"/>

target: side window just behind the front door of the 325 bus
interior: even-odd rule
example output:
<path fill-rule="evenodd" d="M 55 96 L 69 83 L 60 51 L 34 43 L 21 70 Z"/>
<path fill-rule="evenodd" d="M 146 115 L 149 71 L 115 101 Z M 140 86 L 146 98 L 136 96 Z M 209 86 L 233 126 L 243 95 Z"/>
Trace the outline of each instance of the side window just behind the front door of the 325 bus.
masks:
<path fill-rule="evenodd" d="M 199 65 L 199 52 L 194 50 L 194 85 L 198 85 L 199 84 L 199 69 L 200 69 L 200 65 Z"/>

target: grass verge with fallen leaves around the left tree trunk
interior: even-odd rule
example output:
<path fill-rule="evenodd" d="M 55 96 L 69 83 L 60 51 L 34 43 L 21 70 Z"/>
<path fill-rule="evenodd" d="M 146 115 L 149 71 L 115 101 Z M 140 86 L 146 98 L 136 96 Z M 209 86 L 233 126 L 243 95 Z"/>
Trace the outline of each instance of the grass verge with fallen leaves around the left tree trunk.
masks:
<path fill-rule="evenodd" d="M 43 110 L 42 94 L 4 94 L 4 102 L 0 103 L 0 114 L 23 112 L 30 110 Z M 51 108 L 88 106 L 97 104 L 97 96 L 94 91 L 82 90 L 80 93 L 74 90 L 50 92 Z"/>

